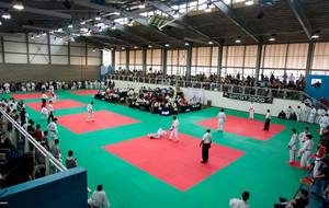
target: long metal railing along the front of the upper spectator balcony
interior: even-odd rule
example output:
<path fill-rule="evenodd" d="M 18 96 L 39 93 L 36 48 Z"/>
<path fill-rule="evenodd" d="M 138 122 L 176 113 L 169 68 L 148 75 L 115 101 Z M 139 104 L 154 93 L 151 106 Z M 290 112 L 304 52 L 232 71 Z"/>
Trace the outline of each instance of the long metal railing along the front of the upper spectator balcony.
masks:
<path fill-rule="evenodd" d="M 218 91 L 227 93 L 236 93 L 241 95 L 253 95 L 262 97 L 276 97 L 302 101 L 304 99 L 304 91 L 295 91 L 288 89 L 271 89 L 271 88 L 259 88 L 259 86 L 245 86 L 245 85 L 232 85 L 224 83 L 212 83 L 212 82 L 198 82 L 198 81 L 184 81 L 179 79 L 159 79 L 148 77 L 133 77 L 122 74 L 111 74 L 111 80 L 120 81 L 132 81 L 138 83 L 149 84 L 161 84 L 168 86 L 181 86 L 181 88 L 197 88 L 207 91 Z"/>

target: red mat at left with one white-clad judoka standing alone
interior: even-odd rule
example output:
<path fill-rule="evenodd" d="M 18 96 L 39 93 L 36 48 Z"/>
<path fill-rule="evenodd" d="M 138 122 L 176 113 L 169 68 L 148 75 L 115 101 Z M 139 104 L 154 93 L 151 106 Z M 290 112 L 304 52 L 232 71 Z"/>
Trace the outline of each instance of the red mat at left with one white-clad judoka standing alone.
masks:
<path fill-rule="evenodd" d="M 129 118 L 107 111 L 93 112 L 95 122 L 91 122 L 90 118 L 89 123 L 87 123 L 87 117 L 88 113 L 56 116 L 56 118 L 58 118 L 57 123 L 59 125 L 76 134 L 90 132 L 94 130 L 140 123 L 140 120 L 136 120 L 134 118 Z"/>

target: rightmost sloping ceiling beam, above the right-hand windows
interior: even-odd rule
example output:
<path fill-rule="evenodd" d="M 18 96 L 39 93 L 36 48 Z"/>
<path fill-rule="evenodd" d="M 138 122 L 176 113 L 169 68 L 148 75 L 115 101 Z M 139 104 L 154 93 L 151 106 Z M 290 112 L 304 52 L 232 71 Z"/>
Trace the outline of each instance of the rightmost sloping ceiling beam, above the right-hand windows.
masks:
<path fill-rule="evenodd" d="M 298 1 L 296 0 L 287 0 L 290 7 L 292 8 L 295 16 L 297 18 L 299 24 L 302 25 L 304 32 L 306 33 L 308 39 L 310 39 L 311 37 L 311 26 L 306 18 L 306 15 L 304 14 L 302 8 L 300 8 L 300 4 Z"/>

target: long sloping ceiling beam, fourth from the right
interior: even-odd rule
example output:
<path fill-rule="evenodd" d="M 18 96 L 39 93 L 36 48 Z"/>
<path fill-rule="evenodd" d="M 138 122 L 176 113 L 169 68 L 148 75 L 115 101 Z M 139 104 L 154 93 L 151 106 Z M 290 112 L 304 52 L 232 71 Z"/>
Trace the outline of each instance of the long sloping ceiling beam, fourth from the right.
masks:
<path fill-rule="evenodd" d="M 118 12 L 122 15 L 126 16 L 126 18 L 131 18 L 131 19 L 135 19 L 136 22 L 139 22 L 140 24 L 143 24 L 144 26 L 151 28 L 152 31 L 166 35 L 177 42 L 180 42 L 181 44 L 183 44 L 182 41 L 180 41 L 180 37 L 177 37 L 175 33 L 172 33 L 170 31 L 159 31 L 158 28 L 156 28 L 155 26 L 151 26 L 148 24 L 149 19 L 147 16 L 143 16 L 139 15 L 137 13 L 134 12 L 128 12 L 124 9 L 120 10 L 116 8 L 111 8 L 111 7 L 106 7 L 106 5 L 100 5 L 100 4 L 95 4 L 95 3 L 90 3 L 90 2 L 83 2 L 83 1 L 76 1 L 75 4 L 77 5 L 81 5 L 81 7 L 86 7 L 86 8 L 92 8 L 99 11 L 105 11 L 105 12 Z M 173 26 L 173 24 L 170 24 L 171 26 Z M 175 24 L 175 26 L 178 26 L 178 24 Z"/>

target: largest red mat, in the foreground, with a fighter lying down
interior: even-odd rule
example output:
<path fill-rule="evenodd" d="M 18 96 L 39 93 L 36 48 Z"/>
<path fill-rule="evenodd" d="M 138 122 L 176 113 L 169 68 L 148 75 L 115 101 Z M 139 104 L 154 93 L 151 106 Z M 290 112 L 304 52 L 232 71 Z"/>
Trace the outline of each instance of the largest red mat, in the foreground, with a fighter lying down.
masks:
<path fill-rule="evenodd" d="M 201 163 L 202 148 L 198 147 L 201 139 L 180 132 L 179 138 L 177 142 L 164 136 L 160 139 L 144 136 L 105 146 L 103 149 L 182 192 L 246 153 L 212 143 L 209 160 L 204 164 Z"/>

